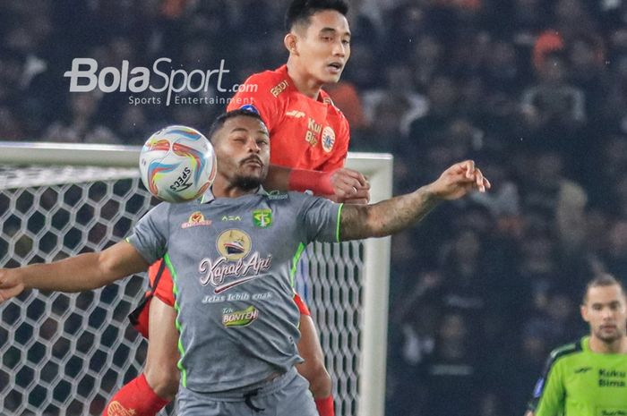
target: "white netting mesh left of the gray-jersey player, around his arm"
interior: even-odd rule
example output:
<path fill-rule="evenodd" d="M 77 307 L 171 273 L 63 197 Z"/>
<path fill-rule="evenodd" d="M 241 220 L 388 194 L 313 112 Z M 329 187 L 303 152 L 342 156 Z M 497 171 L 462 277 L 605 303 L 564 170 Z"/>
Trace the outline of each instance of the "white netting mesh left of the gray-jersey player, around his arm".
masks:
<path fill-rule="evenodd" d="M 150 208 L 128 169 L 3 171 L 3 267 L 102 250 Z M 143 290 L 135 276 L 95 292 L 32 291 L 0 305 L 0 414 L 99 414 L 110 392 L 142 369 L 145 344 L 126 315 Z"/>

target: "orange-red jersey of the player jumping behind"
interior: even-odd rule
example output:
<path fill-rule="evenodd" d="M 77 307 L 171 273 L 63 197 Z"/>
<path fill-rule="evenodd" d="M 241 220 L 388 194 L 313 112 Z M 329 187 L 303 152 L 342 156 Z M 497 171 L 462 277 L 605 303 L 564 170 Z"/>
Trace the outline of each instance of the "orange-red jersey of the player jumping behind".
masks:
<path fill-rule="evenodd" d="M 287 65 L 248 77 L 227 111 L 238 108 L 262 116 L 273 165 L 324 172 L 344 166 L 350 134 L 346 117 L 323 90 L 317 100 L 298 91 Z"/>

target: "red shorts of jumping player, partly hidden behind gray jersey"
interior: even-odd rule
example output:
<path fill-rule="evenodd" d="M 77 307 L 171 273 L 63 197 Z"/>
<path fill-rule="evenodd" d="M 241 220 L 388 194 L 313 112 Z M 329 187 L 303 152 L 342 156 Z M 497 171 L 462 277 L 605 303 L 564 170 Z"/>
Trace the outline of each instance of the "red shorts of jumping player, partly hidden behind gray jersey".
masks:
<path fill-rule="evenodd" d="M 174 308 L 174 283 L 172 282 L 172 275 L 163 259 L 157 260 L 149 267 L 148 278 L 150 280 L 150 290 L 146 292 L 142 303 L 128 316 L 133 327 L 135 327 L 144 338 L 148 338 L 148 317 L 152 296 L 157 296 L 159 301 L 163 301 Z M 294 301 L 301 315 L 311 316 L 312 313 L 309 311 L 309 308 L 307 308 L 307 305 L 305 305 L 305 301 L 303 301 L 296 292 L 294 293 Z"/>

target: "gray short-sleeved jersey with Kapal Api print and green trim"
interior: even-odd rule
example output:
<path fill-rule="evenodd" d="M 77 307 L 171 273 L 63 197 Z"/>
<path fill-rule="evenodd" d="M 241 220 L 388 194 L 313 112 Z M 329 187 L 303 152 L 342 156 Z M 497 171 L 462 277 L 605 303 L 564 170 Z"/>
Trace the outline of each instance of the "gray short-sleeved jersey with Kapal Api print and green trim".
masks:
<path fill-rule="evenodd" d="M 292 260 L 338 241 L 341 205 L 298 192 L 205 199 L 160 204 L 128 242 L 173 276 L 181 383 L 222 392 L 302 361 Z"/>

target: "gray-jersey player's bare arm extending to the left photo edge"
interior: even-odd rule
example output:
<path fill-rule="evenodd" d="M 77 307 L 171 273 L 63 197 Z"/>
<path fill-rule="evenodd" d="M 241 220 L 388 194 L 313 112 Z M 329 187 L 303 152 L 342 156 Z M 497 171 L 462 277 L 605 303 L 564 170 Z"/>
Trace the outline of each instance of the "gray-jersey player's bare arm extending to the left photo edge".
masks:
<path fill-rule="evenodd" d="M 146 260 L 128 242 L 54 263 L 4 268 L 0 269 L 0 302 L 24 289 L 58 292 L 96 289 L 147 268 Z"/>

